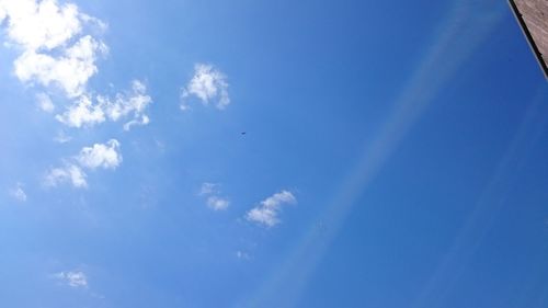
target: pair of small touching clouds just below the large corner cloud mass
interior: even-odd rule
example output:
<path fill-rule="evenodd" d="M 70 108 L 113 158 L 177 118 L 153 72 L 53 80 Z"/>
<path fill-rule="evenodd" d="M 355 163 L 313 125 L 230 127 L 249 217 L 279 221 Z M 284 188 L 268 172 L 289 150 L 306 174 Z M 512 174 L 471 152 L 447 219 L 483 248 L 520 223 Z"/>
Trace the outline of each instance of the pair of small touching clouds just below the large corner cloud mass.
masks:
<path fill-rule="evenodd" d="M 121 163 L 119 142 L 111 139 L 106 144 L 84 147 L 78 156 L 66 160 L 62 167 L 50 169 L 46 173 L 44 184 L 55 187 L 61 183 L 71 183 L 77 189 L 87 187 L 87 174 L 83 169 L 95 170 L 102 168 L 114 170 Z"/>

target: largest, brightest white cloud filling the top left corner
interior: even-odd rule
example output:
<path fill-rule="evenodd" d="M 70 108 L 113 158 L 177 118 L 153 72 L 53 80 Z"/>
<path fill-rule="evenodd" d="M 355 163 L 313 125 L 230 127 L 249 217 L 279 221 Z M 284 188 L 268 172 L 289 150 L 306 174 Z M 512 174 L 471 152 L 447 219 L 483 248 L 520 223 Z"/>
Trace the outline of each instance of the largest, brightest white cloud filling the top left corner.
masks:
<path fill-rule="evenodd" d="M 0 11 L 8 20 L 4 45 L 21 50 L 14 61 L 21 81 L 55 84 L 69 98 L 85 91 L 88 80 L 98 72 L 96 58 L 107 47 L 82 32 L 84 25 L 103 28 L 104 23 L 80 13 L 75 4 L 55 0 L 0 0 Z"/>

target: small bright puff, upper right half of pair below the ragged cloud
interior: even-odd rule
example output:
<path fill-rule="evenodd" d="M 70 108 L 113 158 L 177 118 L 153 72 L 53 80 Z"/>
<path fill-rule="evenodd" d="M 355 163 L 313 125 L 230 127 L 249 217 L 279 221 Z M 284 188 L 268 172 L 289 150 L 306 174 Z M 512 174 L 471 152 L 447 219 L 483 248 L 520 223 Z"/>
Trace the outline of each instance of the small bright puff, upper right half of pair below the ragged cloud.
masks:
<path fill-rule="evenodd" d="M 122 155 L 118 152 L 119 142 L 115 139 L 106 144 L 95 144 L 92 147 L 84 147 L 77 160 L 80 166 L 87 169 L 116 169 L 122 163 Z"/>

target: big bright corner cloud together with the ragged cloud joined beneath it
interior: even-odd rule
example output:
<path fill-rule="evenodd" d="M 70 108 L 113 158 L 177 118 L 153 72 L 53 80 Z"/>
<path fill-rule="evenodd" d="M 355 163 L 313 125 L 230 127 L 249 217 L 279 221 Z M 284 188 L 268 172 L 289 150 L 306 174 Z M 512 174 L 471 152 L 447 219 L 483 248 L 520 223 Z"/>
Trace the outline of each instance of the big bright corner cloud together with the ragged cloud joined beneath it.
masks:
<path fill-rule="evenodd" d="M 5 25 L 4 45 L 20 50 L 13 62 L 18 79 L 46 89 L 58 88 L 71 101 L 67 111 L 56 116 L 62 124 L 80 128 L 130 117 L 124 124 L 129 130 L 150 122 L 145 110 L 152 100 L 142 82 L 134 80 L 130 91 L 115 98 L 93 95 L 88 89 L 89 80 L 99 71 L 98 59 L 109 53 L 109 47 L 92 34 L 106 28 L 102 21 L 80 12 L 72 3 L 0 0 L 0 25 Z M 37 100 L 43 111 L 55 110 L 46 93 L 38 94 Z"/>

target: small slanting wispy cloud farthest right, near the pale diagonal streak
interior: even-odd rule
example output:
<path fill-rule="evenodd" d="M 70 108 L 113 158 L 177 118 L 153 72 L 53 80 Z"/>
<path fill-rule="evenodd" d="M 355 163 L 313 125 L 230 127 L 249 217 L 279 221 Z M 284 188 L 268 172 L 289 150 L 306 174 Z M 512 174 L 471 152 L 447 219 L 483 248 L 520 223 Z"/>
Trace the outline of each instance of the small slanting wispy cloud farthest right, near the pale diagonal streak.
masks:
<path fill-rule="evenodd" d="M 246 214 L 246 219 L 266 227 L 274 227 L 281 223 L 278 215 L 282 212 L 282 206 L 295 203 L 297 203 L 297 199 L 290 192 L 282 191 L 265 198 L 259 206 L 250 209 Z"/>

